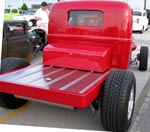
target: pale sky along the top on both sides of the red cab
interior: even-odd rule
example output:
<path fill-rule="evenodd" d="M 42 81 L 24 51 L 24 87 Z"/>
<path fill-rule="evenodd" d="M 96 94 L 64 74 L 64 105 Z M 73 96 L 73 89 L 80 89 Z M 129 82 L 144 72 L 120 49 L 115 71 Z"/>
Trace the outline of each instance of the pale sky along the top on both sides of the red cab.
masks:
<path fill-rule="evenodd" d="M 42 1 L 46 1 L 47 3 L 55 3 L 57 0 L 5 0 L 5 7 L 21 7 L 23 3 L 26 3 L 28 7 L 31 7 L 31 4 L 40 4 Z M 144 8 L 144 0 L 118 0 L 128 2 L 129 5 L 133 9 L 143 9 Z M 150 0 L 147 1 L 147 9 L 150 9 Z"/>

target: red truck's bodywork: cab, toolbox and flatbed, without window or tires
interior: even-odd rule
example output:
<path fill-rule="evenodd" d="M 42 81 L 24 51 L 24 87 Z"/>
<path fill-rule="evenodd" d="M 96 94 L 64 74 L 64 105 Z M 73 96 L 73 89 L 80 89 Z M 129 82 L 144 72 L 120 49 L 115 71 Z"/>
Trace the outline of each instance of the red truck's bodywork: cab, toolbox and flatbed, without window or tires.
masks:
<path fill-rule="evenodd" d="M 101 12 L 103 23 L 69 25 L 68 14 L 74 10 Z M 128 68 L 132 10 L 119 1 L 58 2 L 50 12 L 48 43 L 43 53 L 45 66 L 34 65 L 1 75 L 0 92 L 87 107 L 99 95 L 111 68 Z"/>

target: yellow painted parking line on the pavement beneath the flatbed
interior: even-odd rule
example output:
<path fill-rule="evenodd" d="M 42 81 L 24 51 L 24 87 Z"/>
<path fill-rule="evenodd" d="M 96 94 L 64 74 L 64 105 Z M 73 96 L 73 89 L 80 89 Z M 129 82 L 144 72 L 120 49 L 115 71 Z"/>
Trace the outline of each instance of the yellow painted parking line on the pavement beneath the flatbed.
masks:
<path fill-rule="evenodd" d="M 28 108 L 30 108 L 31 106 L 33 105 L 32 102 L 28 102 L 26 105 L 16 109 L 16 110 L 13 110 L 12 112 L 4 115 L 3 117 L 0 118 L 0 124 L 3 124 L 7 121 L 9 121 L 10 119 L 14 118 L 15 116 L 17 116 L 18 114 L 20 114 L 21 112 L 27 110 Z"/>

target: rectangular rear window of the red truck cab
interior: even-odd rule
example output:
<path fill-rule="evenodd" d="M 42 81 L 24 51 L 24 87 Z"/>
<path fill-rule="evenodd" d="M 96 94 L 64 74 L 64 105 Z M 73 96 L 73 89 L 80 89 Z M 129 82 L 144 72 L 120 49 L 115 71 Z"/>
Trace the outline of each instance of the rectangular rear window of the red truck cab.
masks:
<path fill-rule="evenodd" d="M 100 11 L 70 11 L 68 24 L 70 26 L 101 26 L 103 13 Z"/>

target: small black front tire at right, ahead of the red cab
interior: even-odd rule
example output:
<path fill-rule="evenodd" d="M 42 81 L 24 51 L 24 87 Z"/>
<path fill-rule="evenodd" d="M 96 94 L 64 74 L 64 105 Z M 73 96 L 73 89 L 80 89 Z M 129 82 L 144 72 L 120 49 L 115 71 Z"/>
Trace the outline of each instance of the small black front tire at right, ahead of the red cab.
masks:
<path fill-rule="evenodd" d="M 148 47 L 142 46 L 139 55 L 139 70 L 146 71 L 148 66 Z"/>

